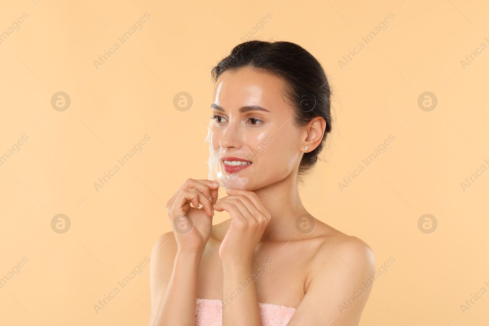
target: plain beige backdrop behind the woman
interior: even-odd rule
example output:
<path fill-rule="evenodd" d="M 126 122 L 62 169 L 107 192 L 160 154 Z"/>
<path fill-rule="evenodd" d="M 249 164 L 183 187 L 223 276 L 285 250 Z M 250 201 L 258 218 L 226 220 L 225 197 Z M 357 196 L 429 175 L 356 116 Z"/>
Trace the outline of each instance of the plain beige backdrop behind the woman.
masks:
<path fill-rule="evenodd" d="M 146 325 L 149 267 L 97 314 L 99 299 L 150 256 L 171 230 L 164 203 L 188 177 L 205 178 L 202 146 L 212 103 L 210 69 L 248 32 L 310 50 L 335 88 L 328 162 L 306 179 L 312 215 L 373 248 L 377 268 L 360 322 L 370 325 L 483 325 L 489 294 L 487 1 L 9 1 L 0 32 L 28 14 L 0 44 L 0 277 L 28 263 L 0 289 L 1 325 Z M 151 18 L 98 69 L 144 13 Z M 271 13 L 273 18 L 255 29 Z M 340 68 L 392 12 L 387 30 Z M 486 53 L 488 52 L 488 53 Z M 66 92 L 60 112 L 51 97 Z M 186 91 L 182 112 L 174 96 Z M 438 106 L 423 111 L 422 92 Z M 163 124 L 161 124 L 164 121 Z M 148 134 L 151 141 L 99 191 L 94 182 Z M 338 183 L 392 134 L 396 140 L 343 192 Z M 15 147 L 14 147 L 15 148 Z M 327 205 L 325 205 L 327 203 Z M 51 219 L 65 214 L 65 234 Z M 432 214 L 431 234 L 418 219 Z M 223 214 L 216 223 L 226 218 Z"/>

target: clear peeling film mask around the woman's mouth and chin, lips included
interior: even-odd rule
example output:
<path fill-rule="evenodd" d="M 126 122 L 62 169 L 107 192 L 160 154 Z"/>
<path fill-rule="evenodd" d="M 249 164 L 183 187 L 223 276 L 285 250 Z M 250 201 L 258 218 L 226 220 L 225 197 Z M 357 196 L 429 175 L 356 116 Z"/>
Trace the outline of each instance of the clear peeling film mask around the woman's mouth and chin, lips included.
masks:
<path fill-rule="evenodd" d="M 236 159 L 223 161 L 221 160 L 223 156 L 229 156 L 223 152 L 222 147 L 219 145 L 219 140 L 219 136 L 208 128 L 205 141 L 209 143 L 209 159 L 207 160 L 209 180 L 219 182 L 224 189 L 246 190 L 245 187 L 248 183 L 248 176 L 246 175 L 252 173 L 254 168 L 252 151 L 242 147 L 232 154 Z"/>

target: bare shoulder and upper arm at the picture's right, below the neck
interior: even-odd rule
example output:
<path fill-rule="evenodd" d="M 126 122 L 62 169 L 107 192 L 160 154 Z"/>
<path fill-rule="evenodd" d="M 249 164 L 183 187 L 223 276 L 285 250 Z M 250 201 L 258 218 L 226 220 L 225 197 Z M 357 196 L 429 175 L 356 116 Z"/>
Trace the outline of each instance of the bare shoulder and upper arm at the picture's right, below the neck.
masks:
<path fill-rule="evenodd" d="M 368 244 L 356 237 L 341 243 L 324 241 L 322 257 L 318 257 L 319 263 L 312 273 L 306 295 L 288 326 L 330 322 L 328 326 L 357 326 L 360 321 L 372 288 L 362 282 L 375 273 L 374 253 Z"/>

